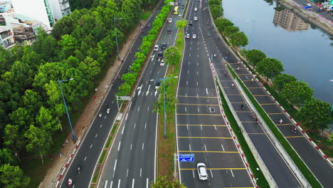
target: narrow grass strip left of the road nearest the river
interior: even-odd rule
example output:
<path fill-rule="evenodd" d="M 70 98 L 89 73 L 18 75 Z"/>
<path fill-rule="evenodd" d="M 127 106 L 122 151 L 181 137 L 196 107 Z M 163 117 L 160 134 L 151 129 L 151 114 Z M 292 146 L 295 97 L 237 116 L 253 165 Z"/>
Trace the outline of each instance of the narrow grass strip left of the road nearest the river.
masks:
<path fill-rule="evenodd" d="M 228 69 L 229 69 L 229 71 L 231 71 L 231 73 L 233 74 L 233 76 L 235 76 L 235 78 L 238 80 L 238 82 L 240 83 L 241 87 L 245 91 L 246 95 L 248 95 L 248 98 L 251 100 L 251 103 L 253 103 L 255 109 L 258 110 L 258 113 L 260 114 L 260 116 L 263 117 L 263 120 L 266 122 L 266 124 L 268 125 L 268 127 L 270 128 L 270 130 L 273 132 L 273 134 L 275 135 L 275 137 L 277 138 L 277 140 L 280 142 L 280 144 L 282 145 L 282 147 L 285 148 L 285 151 L 291 157 L 292 161 L 295 162 L 295 164 L 297 165 L 298 169 L 300 169 L 300 172 L 302 172 L 302 174 L 305 176 L 305 178 L 307 179 L 307 182 L 309 182 L 312 187 L 322 187 L 321 184 L 319 184 L 319 182 L 317 181 L 317 179 L 314 177 L 314 175 L 312 174 L 312 172 L 310 172 L 310 169 L 307 168 L 307 166 L 300 159 L 300 157 L 298 157 L 297 153 L 292 149 L 292 147 L 290 146 L 289 142 L 287 142 L 287 140 L 282 135 L 282 133 L 280 132 L 280 130 L 277 129 L 277 127 L 275 126 L 274 122 L 272 122 L 272 120 L 270 120 L 270 117 L 267 115 L 267 113 L 265 112 L 265 110 L 263 110 L 263 108 L 261 108 L 261 106 L 259 105 L 259 103 L 257 102 L 257 100 L 255 100 L 255 98 L 252 95 L 252 93 L 250 93 L 250 90 L 248 90 L 248 88 L 246 88 L 246 86 L 238 78 L 238 76 L 236 75 L 236 73 L 233 71 L 233 69 L 229 65 L 228 65 Z"/>

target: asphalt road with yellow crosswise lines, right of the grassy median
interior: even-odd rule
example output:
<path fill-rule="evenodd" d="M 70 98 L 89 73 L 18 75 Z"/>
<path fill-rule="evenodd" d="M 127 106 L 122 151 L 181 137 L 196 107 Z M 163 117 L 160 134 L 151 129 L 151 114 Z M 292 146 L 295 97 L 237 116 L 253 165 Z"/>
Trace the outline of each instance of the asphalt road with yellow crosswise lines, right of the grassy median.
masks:
<path fill-rule="evenodd" d="M 201 6 L 200 6 L 201 5 Z M 208 61 L 205 38 L 206 1 L 192 0 L 186 19 L 184 58 L 177 90 L 176 137 L 178 155 L 194 154 L 194 162 L 179 163 L 179 177 L 186 187 L 254 187 L 218 105 Z M 194 11 L 197 8 L 197 11 Z M 194 21 L 194 16 L 198 21 Z M 198 38 L 192 38 L 196 34 Z M 211 52 L 209 52 L 211 53 Z M 208 180 L 198 177 L 196 164 L 203 162 Z"/>

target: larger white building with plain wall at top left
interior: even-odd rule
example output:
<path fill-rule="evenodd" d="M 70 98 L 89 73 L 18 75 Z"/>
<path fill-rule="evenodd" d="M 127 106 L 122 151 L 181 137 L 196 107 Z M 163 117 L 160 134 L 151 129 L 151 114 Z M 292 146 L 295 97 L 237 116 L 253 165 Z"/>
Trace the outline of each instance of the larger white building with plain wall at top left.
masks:
<path fill-rule="evenodd" d="M 49 30 L 53 29 L 55 20 L 49 0 L 11 0 L 11 3 L 16 14 L 41 21 L 41 23 L 48 26 Z"/>

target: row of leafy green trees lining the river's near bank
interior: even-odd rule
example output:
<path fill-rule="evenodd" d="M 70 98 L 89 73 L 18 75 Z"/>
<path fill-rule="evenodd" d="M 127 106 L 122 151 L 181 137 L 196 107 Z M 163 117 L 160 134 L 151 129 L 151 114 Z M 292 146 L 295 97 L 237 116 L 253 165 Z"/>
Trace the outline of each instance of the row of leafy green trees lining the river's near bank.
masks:
<path fill-rule="evenodd" d="M 216 0 L 209 1 L 210 5 L 218 3 Z M 239 32 L 238 26 L 234 26 L 230 20 L 218 18 L 215 23 L 218 31 L 230 38 L 232 46 L 239 48 L 248 45 L 245 33 Z M 266 82 L 268 79 L 272 80 L 273 88 L 277 90 L 281 98 L 287 100 L 291 107 L 297 105 L 300 108 L 302 125 L 311 130 L 323 130 L 328 127 L 328 123 L 332 120 L 329 116 L 330 105 L 322 100 L 314 99 L 313 90 L 307 83 L 297 80 L 293 75 L 281 73 L 284 71 L 282 62 L 276 58 L 266 57 L 265 53 L 260 50 L 242 49 L 241 52 L 253 69 L 266 77 Z"/>

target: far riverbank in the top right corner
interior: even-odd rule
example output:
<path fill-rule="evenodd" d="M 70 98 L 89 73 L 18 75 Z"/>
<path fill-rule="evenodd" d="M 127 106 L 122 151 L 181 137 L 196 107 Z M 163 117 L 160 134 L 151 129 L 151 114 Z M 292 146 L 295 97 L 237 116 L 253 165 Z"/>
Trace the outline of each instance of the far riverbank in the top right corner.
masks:
<path fill-rule="evenodd" d="M 313 12 L 309 12 L 305 9 L 300 8 L 294 1 L 285 1 L 285 0 L 275 0 L 277 3 L 282 4 L 285 6 L 286 9 L 292 11 L 293 13 L 300 16 L 302 19 L 309 21 L 310 23 L 314 24 L 318 28 L 322 29 L 325 33 L 329 34 L 329 36 L 333 37 L 333 24 L 325 21 L 324 19 L 320 19 Z"/>

